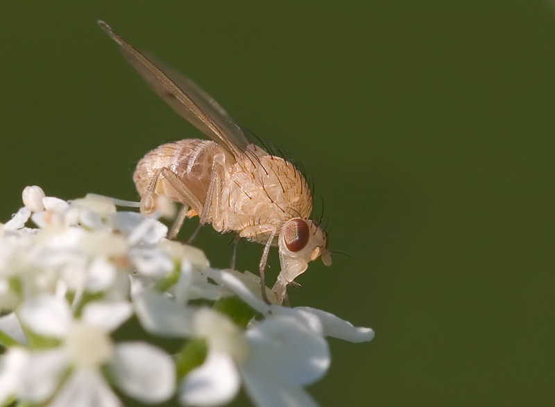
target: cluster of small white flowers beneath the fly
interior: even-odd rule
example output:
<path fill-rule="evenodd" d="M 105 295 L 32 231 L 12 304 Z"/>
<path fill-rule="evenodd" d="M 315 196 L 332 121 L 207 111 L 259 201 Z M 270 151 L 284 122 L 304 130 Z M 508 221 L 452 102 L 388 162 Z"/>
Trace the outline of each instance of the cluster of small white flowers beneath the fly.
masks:
<path fill-rule="evenodd" d="M 117 388 L 148 404 L 219 406 L 242 385 L 257 406 L 316 406 L 303 386 L 330 365 L 325 336 L 374 336 L 324 311 L 266 304 L 258 277 L 210 268 L 114 200 L 27 187 L 23 201 L 0 223 L 0 405 L 120 406 Z M 115 340 L 133 316 L 144 334 Z M 153 335 L 183 347 L 171 356 Z"/>

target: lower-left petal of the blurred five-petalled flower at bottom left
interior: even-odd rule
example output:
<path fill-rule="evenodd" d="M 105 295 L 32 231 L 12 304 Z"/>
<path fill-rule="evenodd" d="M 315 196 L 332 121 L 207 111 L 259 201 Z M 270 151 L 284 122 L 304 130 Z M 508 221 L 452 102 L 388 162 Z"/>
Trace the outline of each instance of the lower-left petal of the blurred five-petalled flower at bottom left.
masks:
<path fill-rule="evenodd" d="M 22 376 L 21 398 L 40 403 L 50 397 L 66 367 L 67 359 L 60 349 L 33 352 Z"/>

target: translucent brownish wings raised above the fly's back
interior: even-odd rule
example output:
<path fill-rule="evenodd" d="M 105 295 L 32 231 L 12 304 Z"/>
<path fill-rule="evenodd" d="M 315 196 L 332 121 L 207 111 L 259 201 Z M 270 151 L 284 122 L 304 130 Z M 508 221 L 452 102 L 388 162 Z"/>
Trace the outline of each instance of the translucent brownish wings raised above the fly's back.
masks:
<path fill-rule="evenodd" d="M 99 26 L 121 46 L 123 55 L 146 83 L 180 116 L 205 135 L 217 141 L 235 158 L 244 157 L 250 141 L 228 112 L 189 78 L 164 73 L 135 47 L 123 40 L 104 21 Z"/>

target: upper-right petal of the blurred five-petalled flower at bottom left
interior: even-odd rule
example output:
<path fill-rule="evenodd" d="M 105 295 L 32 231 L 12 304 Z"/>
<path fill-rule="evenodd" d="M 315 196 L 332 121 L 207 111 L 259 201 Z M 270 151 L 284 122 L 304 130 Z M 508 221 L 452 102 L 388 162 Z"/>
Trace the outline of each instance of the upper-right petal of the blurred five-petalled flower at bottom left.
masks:
<path fill-rule="evenodd" d="M 127 301 L 94 301 L 83 308 L 81 318 L 106 331 L 114 331 L 131 315 L 133 315 L 133 306 Z"/>

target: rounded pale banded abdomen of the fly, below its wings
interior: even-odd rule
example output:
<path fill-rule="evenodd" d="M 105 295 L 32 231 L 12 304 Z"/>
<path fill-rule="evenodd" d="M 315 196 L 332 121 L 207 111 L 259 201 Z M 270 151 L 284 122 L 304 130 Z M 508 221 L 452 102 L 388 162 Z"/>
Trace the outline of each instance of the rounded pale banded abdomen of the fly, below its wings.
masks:
<path fill-rule="evenodd" d="M 151 183 L 155 182 L 155 194 L 166 196 L 173 202 L 191 205 L 191 202 L 184 202 L 183 194 L 176 185 L 182 184 L 202 205 L 210 184 L 212 160 L 219 150 L 223 148 L 214 141 L 198 139 L 184 139 L 151 150 L 140 159 L 133 174 L 139 195 L 143 197 Z M 160 172 L 162 168 L 174 173 L 180 181 L 169 182 L 164 172 Z"/>

